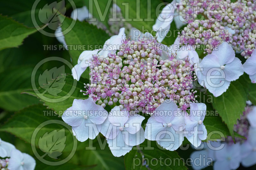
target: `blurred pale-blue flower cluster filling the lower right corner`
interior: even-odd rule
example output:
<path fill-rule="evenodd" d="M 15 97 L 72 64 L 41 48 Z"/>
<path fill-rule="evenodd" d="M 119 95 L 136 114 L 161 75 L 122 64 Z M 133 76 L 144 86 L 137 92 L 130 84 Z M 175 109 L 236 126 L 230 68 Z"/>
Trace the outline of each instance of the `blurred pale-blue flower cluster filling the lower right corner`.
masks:
<path fill-rule="evenodd" d="M 228 137 L 226 142 L 211 142 L 211 145 L 203 143 L 204 148 L 196 148 L 191 154 L 192 159 L 199 159 L 203 161 L 203 158 L 211 159 L 214 161 L 213 170 L 225 169 L 237 169 L 240 163 L 244 167 L 249 167 L 256 164 L 256 106 L 247 106 L 240 121 L 237 125 L 234 125 L 234 131 L 238 134 L 246 137 L 245 139 L 235 138 L 236 144 L 233 139 Z M 210 146 L 210 147 L 209 147 Z M 202 150 L 203 149 L 203 150 Z M 212 164 L 212 163 L 211 163 Z M 196 170 L 204 169 L 210 164 L 196 165 L 194 163 L 192 167 Z"/>

